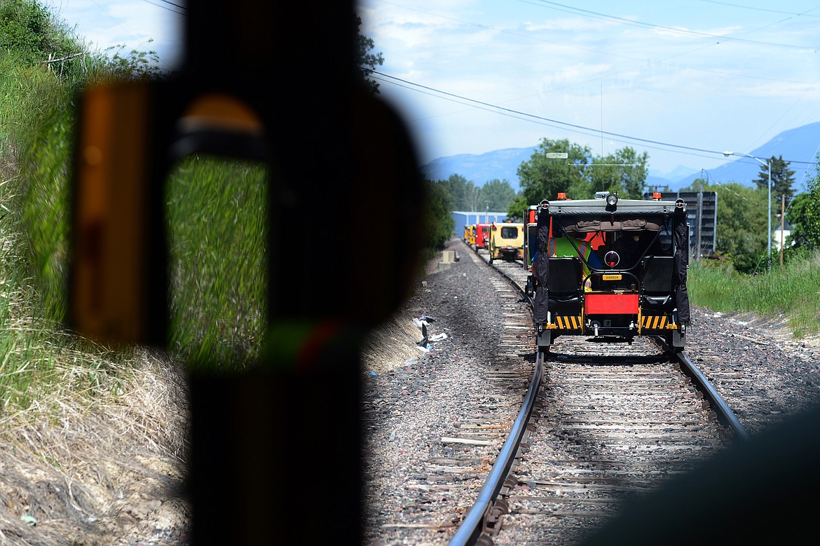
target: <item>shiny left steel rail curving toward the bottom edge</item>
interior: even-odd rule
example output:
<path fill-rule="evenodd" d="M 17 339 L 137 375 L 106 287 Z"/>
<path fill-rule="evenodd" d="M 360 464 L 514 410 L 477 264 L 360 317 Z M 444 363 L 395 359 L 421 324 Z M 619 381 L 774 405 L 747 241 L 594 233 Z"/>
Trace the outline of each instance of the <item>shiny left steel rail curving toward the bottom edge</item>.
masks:
<path fill-rule="evenodd" d="M 485 521 L 493 507 L 495 499 L 499 495 L 499 491 L 504 485 L 504 480 L 507 479 L 512 462 L 515 460 L 518 452 L 519 444 L 521 444 L 522 437 L 526 431 L 526 424 L 530 420 L 533 407 L 535 407 L 535 398 L 538 395 L 541 383 L 541 374 L 544 370 L 544 355 L 538 353 L 535 358 L 535 370 L 532 374 L 530 382 L 530 389 L 527 390 L 526 398 L 522 403 L 521 412 L 512 425 L 507 441 L 504 442 L 499 457 L 496 459 L 490 475 L 481 487 L 478 493 L 476 503 L 467 512 L 462 524 L 458 526 L 456 534 L 453 539 L 450 539 L 449 546 L 467 546 L 468 544 L 476 544 L 481 538 L 485 528 Z"/>

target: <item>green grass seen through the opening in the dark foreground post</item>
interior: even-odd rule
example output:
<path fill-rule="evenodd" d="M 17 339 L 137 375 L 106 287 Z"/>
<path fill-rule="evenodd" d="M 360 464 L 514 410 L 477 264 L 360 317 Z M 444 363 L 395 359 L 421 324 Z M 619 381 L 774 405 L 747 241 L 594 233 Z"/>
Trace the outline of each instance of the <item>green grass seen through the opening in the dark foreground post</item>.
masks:
<path fill-rule="evenodd" d="M 172 352 L 192 366 L 242 366 L 266 326 L 267 170 L 185 157 L 166 180 Z"/>

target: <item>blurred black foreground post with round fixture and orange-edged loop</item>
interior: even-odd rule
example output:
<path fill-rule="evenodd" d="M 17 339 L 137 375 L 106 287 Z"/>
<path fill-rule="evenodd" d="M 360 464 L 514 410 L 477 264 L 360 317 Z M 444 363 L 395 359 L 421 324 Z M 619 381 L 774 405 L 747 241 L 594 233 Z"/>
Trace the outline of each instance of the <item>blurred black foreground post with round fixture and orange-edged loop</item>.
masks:
<path fill-rule="evenodd" d="M 194 544 L 358 544 L 359 348 L 417 272 L 417 157 L 359 80 L 352 2 L 190 4 L 179 74 L 78 101 L 69 324 L 166 345 L 166 177 L 262 162 L 266 347 L 190 374 Z"/>

